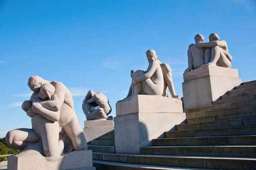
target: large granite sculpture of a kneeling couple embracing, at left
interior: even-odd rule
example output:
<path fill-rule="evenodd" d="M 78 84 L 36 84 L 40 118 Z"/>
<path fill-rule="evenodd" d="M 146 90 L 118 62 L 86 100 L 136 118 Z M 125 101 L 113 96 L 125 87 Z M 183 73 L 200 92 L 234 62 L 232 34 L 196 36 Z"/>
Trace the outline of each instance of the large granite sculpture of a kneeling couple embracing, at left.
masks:
<path fill-rule="evenodd" d="M 30 77 L 28 86 L 34 93 L 30 101 L 23 102 L 22 109 L 31 117 L 32 129 L 9 131 L 6 142 L 22 151 L 37 143 L 34 150 L 46 157 L 59 156 L 64 147 L 69 148 L 68 152 L 87 150 L 68 88 L 39 76 Z"/>

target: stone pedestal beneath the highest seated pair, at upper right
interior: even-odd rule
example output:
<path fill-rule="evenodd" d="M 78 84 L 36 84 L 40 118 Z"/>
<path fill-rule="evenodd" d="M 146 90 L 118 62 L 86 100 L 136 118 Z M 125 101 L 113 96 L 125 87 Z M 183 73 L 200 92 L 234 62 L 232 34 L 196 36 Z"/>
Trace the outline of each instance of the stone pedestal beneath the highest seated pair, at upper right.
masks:
<path fill-rule="evenodd" d="M 241 84 L 238 69 L 218 66 L 202 66 L 184 73 L 183 78 L 185 109 L 212 105 L 212 101 Z"/>

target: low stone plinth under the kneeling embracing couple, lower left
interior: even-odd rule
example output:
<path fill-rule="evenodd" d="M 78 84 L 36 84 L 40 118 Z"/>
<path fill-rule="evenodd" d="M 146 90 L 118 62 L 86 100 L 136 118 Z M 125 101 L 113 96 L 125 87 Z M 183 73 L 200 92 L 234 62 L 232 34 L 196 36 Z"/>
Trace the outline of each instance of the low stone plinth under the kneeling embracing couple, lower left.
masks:
<path fill-rule="evenodd" d="M 92 151 L 74 151 L 55 157 L 44 157 L 34 150 L 8 156 L 8 170 L 95 170 Z"/>

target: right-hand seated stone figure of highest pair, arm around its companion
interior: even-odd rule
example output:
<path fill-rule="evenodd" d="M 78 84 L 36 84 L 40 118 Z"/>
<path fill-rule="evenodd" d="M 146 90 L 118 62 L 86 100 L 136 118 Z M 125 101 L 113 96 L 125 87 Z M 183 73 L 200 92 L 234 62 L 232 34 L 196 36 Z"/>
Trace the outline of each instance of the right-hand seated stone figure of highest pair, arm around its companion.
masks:
<path fill-rule="evenodd" d="M 205 64 L 231 68 L 232 56 L 229 54 L 226 41 L 220 41 L 216 33 L 209 35 L 209 41 L 196 44 L 198 49 L 205 49 Z"/>

